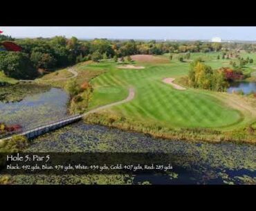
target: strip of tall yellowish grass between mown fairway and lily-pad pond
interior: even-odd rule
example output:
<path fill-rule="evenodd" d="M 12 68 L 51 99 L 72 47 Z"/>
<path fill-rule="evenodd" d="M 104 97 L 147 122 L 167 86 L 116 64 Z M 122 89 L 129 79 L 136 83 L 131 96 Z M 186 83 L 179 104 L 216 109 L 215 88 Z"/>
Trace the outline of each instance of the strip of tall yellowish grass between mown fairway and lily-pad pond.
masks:
<path fill-rule="evenodd" d="M 105 125 L 116 127 L 127 131 L 136 131 L 149 134 L 156 138 L 166 138 L 169 140 L 188 140 L 206 141 L 210 143 L 220 143 L 231 141 L 237 143 L 256 143 L 256 124 L 250 127 L 240 127 L 230 131 L 207 128 L 185 128 L 185 127 L 166 127 L 155 122 L 141 122 L 132 118 L 124 118 L 107 111 L 91 113 L 84 118 L 84 122 L 95 125 Z"/>

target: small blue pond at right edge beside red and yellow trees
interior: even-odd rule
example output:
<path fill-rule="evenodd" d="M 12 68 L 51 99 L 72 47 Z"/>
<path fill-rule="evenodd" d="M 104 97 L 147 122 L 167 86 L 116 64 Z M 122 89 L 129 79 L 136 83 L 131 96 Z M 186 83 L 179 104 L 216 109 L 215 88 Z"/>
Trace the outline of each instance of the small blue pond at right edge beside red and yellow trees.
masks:
<path fill-rule="evenodd" d="M 256 82 L 232 82 L 228 88 L 228 93 L 243 91 L 244 94 L 256 93 Z"/>

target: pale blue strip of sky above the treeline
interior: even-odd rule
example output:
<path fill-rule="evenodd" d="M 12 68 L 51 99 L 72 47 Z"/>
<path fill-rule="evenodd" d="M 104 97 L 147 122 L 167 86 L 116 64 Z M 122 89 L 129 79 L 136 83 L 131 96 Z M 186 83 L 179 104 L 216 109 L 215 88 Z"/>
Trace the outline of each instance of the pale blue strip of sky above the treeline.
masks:
<path fill-rule="evenodd" d="M 243 26 L 0 26 L 3 35 L 12 37 L 54 37 L 80 39 L 221 39 L 256 41 L 256 27 Z"/>

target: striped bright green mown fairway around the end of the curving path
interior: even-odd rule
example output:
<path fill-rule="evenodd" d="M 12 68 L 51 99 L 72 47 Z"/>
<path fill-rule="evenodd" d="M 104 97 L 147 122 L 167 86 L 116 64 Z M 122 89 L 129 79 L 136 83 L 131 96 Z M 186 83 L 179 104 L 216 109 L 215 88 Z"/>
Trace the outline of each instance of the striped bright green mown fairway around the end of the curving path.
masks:
<path fill-rule="evenodd" d="M 215 66 L 223 66 L 222 59 L 218 62 Z M 89 107 L 125 99 L 128 87 L 134 86 L 134 100 L 112 107 L 111 112 L 164 127 L 220 128 L 236 125 L 244 119 L 241 112 L 227 107 L 210 91 L 179 91 L 161 82 L 163 77 L 186 75 L 189 62 L 174 59 L 167 64 L 138 64 L 145 69 L 119 69 L 114 63 L 91 65 L 92 68 L 104 66 L 109 71 L 91 81 L 94 93 Z"/>

